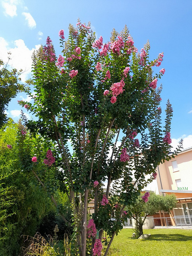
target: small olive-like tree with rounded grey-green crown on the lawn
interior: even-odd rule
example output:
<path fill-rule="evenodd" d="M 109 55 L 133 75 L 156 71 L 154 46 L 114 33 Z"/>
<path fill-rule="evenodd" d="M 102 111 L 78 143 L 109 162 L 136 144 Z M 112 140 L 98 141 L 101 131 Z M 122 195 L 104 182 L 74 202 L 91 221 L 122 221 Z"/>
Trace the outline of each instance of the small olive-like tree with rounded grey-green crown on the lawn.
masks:
<path fill-rule="evenodd" d="M 136 238 L 143 235 L 143 224 L 148 215 L 159 211 L 170 212 L 176 205 L 176 196 L 174 194 L 160 196 L 155 193 L 141 194 L 136 204 L 127 208 L 129 214 L 135 220 Z"/>

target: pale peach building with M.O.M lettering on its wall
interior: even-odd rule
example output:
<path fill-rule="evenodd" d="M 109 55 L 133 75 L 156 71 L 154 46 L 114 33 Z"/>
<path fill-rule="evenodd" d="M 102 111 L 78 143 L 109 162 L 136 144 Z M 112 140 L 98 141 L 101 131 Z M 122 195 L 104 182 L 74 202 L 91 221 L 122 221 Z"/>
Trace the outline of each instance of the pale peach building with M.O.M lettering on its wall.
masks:
<path fill-rule="evenodd" d="M 145 190 L 160 195 L 174 193 L 177 204 L 170 217 L 174 217 L 175 222 L 182 219 L 183 224 L 192 226 L 192 147 L 183 149 L 175 158 L 160 164 L 156 172 L 156 180 Z"/>

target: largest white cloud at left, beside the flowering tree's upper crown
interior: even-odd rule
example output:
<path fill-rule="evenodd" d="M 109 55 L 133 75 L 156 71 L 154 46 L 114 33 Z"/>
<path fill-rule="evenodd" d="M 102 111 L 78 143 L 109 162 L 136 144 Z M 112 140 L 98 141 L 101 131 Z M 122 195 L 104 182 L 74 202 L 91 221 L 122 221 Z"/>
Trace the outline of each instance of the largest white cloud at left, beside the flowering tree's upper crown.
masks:
<path fill-rule="evenodd" d="M 10 48 L 8 42 L 6 42 L 4 38 L 0 37 L 0 58 L 6 63 L 8 57 L 7 52 L 11 52 L 12 54 L 10 55 L 11 60 L 9 61 L 9 65 L 17 70 L 24 70 L 20 78 L 22 79 L 22 82 L 25 82 L 31 73 L 32 53 L 34 50 L 37 50 L 40 45 L 36 45 L 35 48 L 30 50 L 22 39 L 15 40 L 14 44 L 15 47 Z"/>

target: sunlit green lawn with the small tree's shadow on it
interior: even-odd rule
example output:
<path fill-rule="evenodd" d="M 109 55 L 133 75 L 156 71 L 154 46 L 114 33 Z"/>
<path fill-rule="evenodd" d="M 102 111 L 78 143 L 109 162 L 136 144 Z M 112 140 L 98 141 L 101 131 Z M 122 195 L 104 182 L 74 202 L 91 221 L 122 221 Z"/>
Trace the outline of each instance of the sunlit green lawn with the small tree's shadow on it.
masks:
<path fill-rule="evenodd" d="M 109 256 L 192 256 L 192 230 L 148 229 L 148 240 L 132 238 L 133 230 L 124 228 L 111 244 Z"/>

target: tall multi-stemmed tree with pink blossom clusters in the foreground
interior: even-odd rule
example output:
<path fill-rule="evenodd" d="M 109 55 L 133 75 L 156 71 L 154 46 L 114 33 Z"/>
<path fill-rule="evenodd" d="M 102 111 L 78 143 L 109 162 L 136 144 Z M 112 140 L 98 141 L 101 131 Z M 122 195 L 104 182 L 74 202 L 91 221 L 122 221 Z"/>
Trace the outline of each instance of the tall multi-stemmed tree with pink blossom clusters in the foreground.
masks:
<path fill-rule="evenodd" d="M 55 142 L 57 155 L 48 154 L 44 165 L 60 173 L 73 204 L 76 254 L 99 256 L 105 231 L 110 238 L 105 240 L 107 255 L 115 234 L 123 228 L 125 206 L 136 202 L 141 189 L 153 179 L 151 175 L 145 180 L 144 174 L 154 173 L 162 160 L 170 158 L 172 108 L 168 102 L 162 131 L 161 87 L 156 88 L 165 70 L 152 76 L 152 66 L 160 66 L 163 54 L 149 61 L 148 42 L 137 53 L 126 26 L 120 34 L 113 30 L 111 41 L 105 44 L 102 37 L 95 40 L 90 24 L 80 21 L 76 28 L 69 25 L 68 40 L 63 30 L 59 36 L 62 56 L 56 57 L 49 37 L 46 46 L 34 53 L 31 83 L 35 95 L 30 94 L 34 104 L 20 104 L 37 117 L 28 122 L 30 131 Z M 37 166 L 36 157 L 32 161 Z M 95 213 L 87 226 L 93 197 Z"/>

